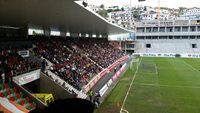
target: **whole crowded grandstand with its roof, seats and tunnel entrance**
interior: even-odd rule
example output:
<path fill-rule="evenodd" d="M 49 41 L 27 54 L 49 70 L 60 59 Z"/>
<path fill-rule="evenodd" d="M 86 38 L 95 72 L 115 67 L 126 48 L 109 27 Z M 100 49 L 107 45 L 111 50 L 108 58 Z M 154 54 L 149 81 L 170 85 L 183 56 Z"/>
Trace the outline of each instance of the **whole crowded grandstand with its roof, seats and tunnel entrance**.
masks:
<path fill-rule="evenodd" d="M 46 7 L 52 2 L 53 10 Z M 0 4 L 4 15 L 0 26 L 1 112 L 47 112 L 45 108 L 54 101 L 69 98 L 100 104 L 103 93 L 99 90 L 104 85 L 101 82 L 107 82 L 111 76 L 105 77 L 106 81 L 101 79 L 127 60 L 126 52 L 119 43 L 113 45 L 108 35 L 125 36 L 130 31 L 107 22 L 73 0 L 55 4 L 56 1 L 26 0 Z M 65 10 L 67 7 L 69 11 Z M 12 17 L 13 10 L 22 18 Z M 77 17 L 71 10 L 81 15 Z"/>

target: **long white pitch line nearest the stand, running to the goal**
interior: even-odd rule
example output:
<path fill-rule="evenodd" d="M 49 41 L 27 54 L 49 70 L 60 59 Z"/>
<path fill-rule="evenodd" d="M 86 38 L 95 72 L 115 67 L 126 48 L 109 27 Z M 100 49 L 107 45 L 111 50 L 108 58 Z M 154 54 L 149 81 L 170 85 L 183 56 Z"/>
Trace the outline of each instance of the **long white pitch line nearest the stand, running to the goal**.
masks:
<path fill-rule="evenodd" d="M 141 58 L 139 64 L 137 65 L 137 69 L 136 69 L 136 71 L 135 71 L 135 73 L 134 73 L 134 75 L 133 75 L 133 78 L 132 78 L 131 84 L 130 84 L 130 86 L 129 86 L 129 88 L 128 88 L 128 91 L 127 91 L 127 93 L 126 93 L 126 96 L 125 96 L 124 101 L 123 101 L 123 104 L 122 104 L 122 107 L 121 107 L 121 109 L 120 109 L 120 113 L 123 113 L 123 111 L 127 111 L 127 110 L 125 110 L 125 109 L 123 109 L 123 108 L 124 108 L 124 105 L 125 105 L 126 99 L 127 99 L 127 97 L 128 97 L 128 94 L 129 94 L 129 92 L 130 92 L 130 90 L 131 90 L 131 87 L 132 87 L 133 81 L 135 80 L 135 77 L 136 77 L 136 74 L 137 74 L 137 72 L 138 72 L 138 68 L 139 68 L 139 65 L 140 65 L 141 61 L 142 61 L 142 58 Z M 128 113 L 128 112 L 127 112 L 127 113 Z"/>

